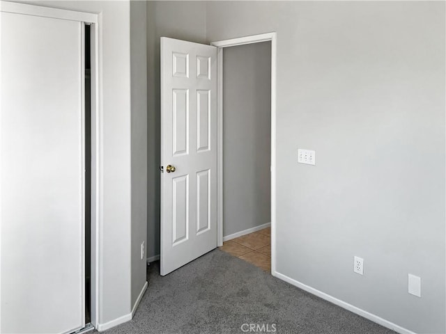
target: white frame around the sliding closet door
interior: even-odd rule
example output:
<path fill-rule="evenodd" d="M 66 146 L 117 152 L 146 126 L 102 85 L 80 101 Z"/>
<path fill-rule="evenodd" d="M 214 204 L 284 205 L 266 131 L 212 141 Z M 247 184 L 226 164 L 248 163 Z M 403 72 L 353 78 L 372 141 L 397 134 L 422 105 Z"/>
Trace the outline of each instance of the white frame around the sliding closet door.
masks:
<path fill-rule="evenodd" d="M 67 19 L 81 22 L 91 26 L 91 290 L 90 290 L 90 312 L 91 325 L 98 328 L 99 324 L 99 292 L 100 292 L 100 241 L 102 239 L 102 41 L 100 40 L 100 29 L 102 25 L 102 14 L 84 13 L 75 10 L 65 10 L 36 6 L 27 3 L 15 3 L 0 1 L 0 12 L 17 13 L 22 15 L 32 15 L 39 17 L 50 17 L 54 19 Z M 82 26 L 82 52 L 84 53 L 84 25 Z M 84 58 L 82 57 L 82 66 Z M 84 104 L 84 73 L 82 73 L 82 166 L 84 166 L 85 154 L 85 104 Z M 85 177 L 82 178 L 82 184 Z M 85 210 L 85 189 L 82 193 L 83 209 Z M 85 222 L 84 222 L 85 223 Z M 1 225 L 0 225 L 1 228 Z M 85 225 L 83 226 L 85 237 Z M 83 243 L 83 256 L 85 257 L 85 242 Z M 0 257 L 1 261 L 1 257 Z M 84 259 L 85 261 L 85 259 Z M 84 268 L 82 269 L 84 271 Z M 85 278 L 85 277 L 84 277 Z M 82 283 L 85 289 L 85 280 Z M 1 305 L 0 305 L 1 307 Z M 82 312 L 85 312 L 83 305 Z M 0 319 L 1 321 L 1 319 Z M 90 328 L 88 329 L 90 330 Z"/>

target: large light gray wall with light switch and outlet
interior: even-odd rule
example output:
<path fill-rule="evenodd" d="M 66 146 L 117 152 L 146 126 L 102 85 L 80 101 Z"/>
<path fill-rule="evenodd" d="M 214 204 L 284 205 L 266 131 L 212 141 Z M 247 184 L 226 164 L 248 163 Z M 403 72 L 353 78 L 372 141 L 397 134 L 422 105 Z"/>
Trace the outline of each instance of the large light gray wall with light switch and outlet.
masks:
<path fill-rule="evenodd" d="M 277 31 L 277 271 L 445 333 L 445 3 L 209 1 L 206 22 Z"/>

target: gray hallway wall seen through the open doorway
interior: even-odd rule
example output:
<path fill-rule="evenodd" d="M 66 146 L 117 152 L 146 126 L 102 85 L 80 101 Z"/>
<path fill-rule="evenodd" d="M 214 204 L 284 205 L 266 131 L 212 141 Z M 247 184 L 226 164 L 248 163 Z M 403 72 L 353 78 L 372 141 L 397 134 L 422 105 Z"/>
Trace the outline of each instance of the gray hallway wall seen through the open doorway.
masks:
<path fill-rule="evenodd" d="M 224 49 L 223 235 L 269 223 L 271 42 Z"/>

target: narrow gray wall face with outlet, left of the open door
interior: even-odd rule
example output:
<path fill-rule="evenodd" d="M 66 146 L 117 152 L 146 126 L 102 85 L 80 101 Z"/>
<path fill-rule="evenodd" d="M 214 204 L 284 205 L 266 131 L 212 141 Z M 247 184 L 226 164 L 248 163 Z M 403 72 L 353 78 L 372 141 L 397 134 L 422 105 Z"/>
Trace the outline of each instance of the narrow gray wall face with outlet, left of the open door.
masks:
<path fill-rule="evenodd" d="M 132 126 L 132 305 L 146 283 L 147 235 L 147 49 L 146 1 L 130 1 Z"/>

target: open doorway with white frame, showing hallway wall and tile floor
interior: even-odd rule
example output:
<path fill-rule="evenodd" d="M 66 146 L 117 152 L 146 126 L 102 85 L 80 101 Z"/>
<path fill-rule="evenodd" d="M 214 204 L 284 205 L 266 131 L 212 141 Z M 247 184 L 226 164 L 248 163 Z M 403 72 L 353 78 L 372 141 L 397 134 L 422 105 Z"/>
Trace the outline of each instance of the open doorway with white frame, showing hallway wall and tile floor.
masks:
<path fill-rule="evenodd" d="M 217 246 L 275 275 L 276 33 L 218 48 Z"/>

